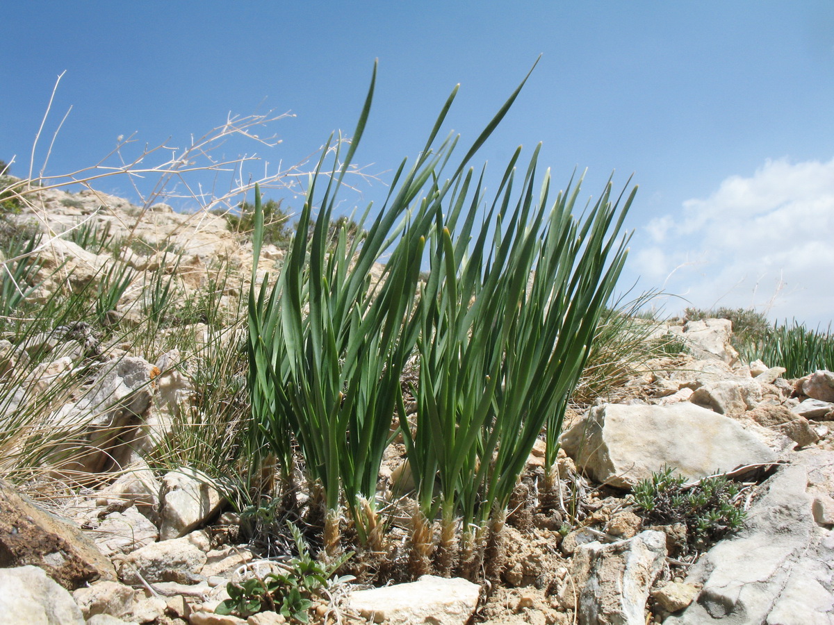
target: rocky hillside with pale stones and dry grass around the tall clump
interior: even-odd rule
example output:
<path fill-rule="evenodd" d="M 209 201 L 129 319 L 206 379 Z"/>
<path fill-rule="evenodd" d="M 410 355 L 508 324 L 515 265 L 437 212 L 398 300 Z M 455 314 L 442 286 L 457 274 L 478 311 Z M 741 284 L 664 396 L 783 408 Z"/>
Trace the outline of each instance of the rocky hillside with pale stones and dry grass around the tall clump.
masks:
<path fill-rule="evenodd" d="M 240 497 L 273 479 L 244 473 L 245 236 L 93 192 L 43 192 L 5 219 L 5 237 L 43 238 L 24 273 L 6 262 L 26 279 L 0 347 L 4 622 L 834 622 L 834 373 L 740 362 L 726 320 L 655 324 L 666 354 L 568 411 L 555 468 L 536 445 L 500 577 L 374 587 L 411 566 L 401 439 L 376 560 L 336 572 L 276 505 Z M 281 258 L 266 248 L 261 273 Z"/>

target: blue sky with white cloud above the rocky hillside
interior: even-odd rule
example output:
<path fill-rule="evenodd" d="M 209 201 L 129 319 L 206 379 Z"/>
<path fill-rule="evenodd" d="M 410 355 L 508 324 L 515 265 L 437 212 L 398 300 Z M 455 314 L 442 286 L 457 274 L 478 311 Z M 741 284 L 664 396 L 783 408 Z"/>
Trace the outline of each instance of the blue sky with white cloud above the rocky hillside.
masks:
<path fill-rule="evenodd" d="M 834 318 L 830 0 L 34 1 L 4 14 L 0 52 L 0 158 L 15 156 L 18 175 L 64 70 L 36 171 L 70 105 L 47 173 L 97 163 L 120 135 L 136 133 L 136 155 L 268 109 L 295 115 L 264 133 L 279 146 L 221 150 L 296 163 L 331 131 L 352 132 L 379 58 L 355 160 L 382 181 L 422 148 L 456 83 L 447 127 L 469 143 L 541 54 L 479 163 L 497 173 L 516 146 L 529 155 L 543 142 L 557 185 L 588 168 L 586 197 L 612 171 L 615 186 L 633 173 L 624 286 L 640 278 L 701 308 L 755 305 L 811 325 Z M 125 179 L 97 187 L 133 193 Z M 385 188 L 359 191 L 346 201 L 379 201 Z"/>

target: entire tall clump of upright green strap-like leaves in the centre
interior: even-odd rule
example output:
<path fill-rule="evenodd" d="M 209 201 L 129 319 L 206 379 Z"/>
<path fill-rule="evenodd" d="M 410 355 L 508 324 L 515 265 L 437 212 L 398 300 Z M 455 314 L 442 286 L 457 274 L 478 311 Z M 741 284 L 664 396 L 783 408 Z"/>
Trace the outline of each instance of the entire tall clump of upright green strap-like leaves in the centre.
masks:
<path fill-rule="evenodd" d="M 485 174 L 469 163 L 520 89 L 464 158 L 450 164 L 457 139 L 433 146 L 455 88 L 420 157 L 395 173 L 377 216 L 371 220 L 368 207 L 355 227 L 344 220 L 332 233 L 336 194 L 367 121 L 372 80 L 347 155 L 339 155 L 340 143 L 326 149 L 310 178 L 271 289 L 266 280 L 256 286 L 265 219 L 256 188 L 249 293 L 254 422 L 284 479 L 297 443 L 314 485 L 311 505 L 326 512 L 324 548 L 331 556 L 339 552 L 341 506 L 359 544 L 379 551 L 379 466 L 395 411 L 406 414 L 400 378 L 415 351 L 414 432 L 405 419 L 399 423 L 417 487 L 415 518 L 442 517 L 440 570 L 480 575 L 477 552 L 483 556 L 485 544 L 500 542 L 510 494 L 545 424 L 546 459 L 555 463 L 566 398 L 625 263 L 627 236 L 620 231 L 636 189 L 616 195 L 609 182 L 582 210 L 580 181 L 556 192 L 550 173 L 539 175 L 539 148 L 518 167 L 519 148 L 487 198 Z M 421 282 L 425 262 L 429 273 Z M 430 551 L 425 527 L 412 528 L 417 552 Z"/>

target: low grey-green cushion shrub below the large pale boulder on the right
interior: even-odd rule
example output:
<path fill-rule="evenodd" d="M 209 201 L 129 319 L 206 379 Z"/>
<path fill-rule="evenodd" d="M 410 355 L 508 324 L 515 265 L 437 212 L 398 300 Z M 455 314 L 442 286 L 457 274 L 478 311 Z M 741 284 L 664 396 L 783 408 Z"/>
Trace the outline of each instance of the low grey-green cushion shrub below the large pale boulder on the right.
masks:
<path fill-rule="evenodd" d="M 686 478 L 663 468 L 637 483 L 632 492 L 646 520 L 684 523 L 695 547 L 705 547 L 741 527 L 746 512 L 739 507 L 740 488 L 723 475 L 686 486 Z"/>

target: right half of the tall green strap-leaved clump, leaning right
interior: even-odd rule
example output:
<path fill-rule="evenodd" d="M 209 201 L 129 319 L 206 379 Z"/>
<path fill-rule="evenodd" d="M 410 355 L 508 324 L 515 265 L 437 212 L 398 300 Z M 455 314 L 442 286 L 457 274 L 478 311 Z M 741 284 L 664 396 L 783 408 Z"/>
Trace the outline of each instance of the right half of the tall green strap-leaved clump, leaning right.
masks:
<path fill-rule="evenodd" d="M 416 430 L 403 428 L 421 512 L 441 516 L 437 566 L 467 577 L 477 575 L 484 542 L 488 577 L 490 568 L 500 572 L 507 503 L 545 423 L 558 435 L 560 410 L 625 262 L 620 228 L 635 193 L 612 203 L 609 182 L 575 219 L 579 184 L 550 203 L 546 173 L 536 192 L 538 149 L 514 193 L 519 154 L 478 229 L 483 198 L 466 199 L 469 177 L 445 217 L 438 208 L 420 293 Z"/>

